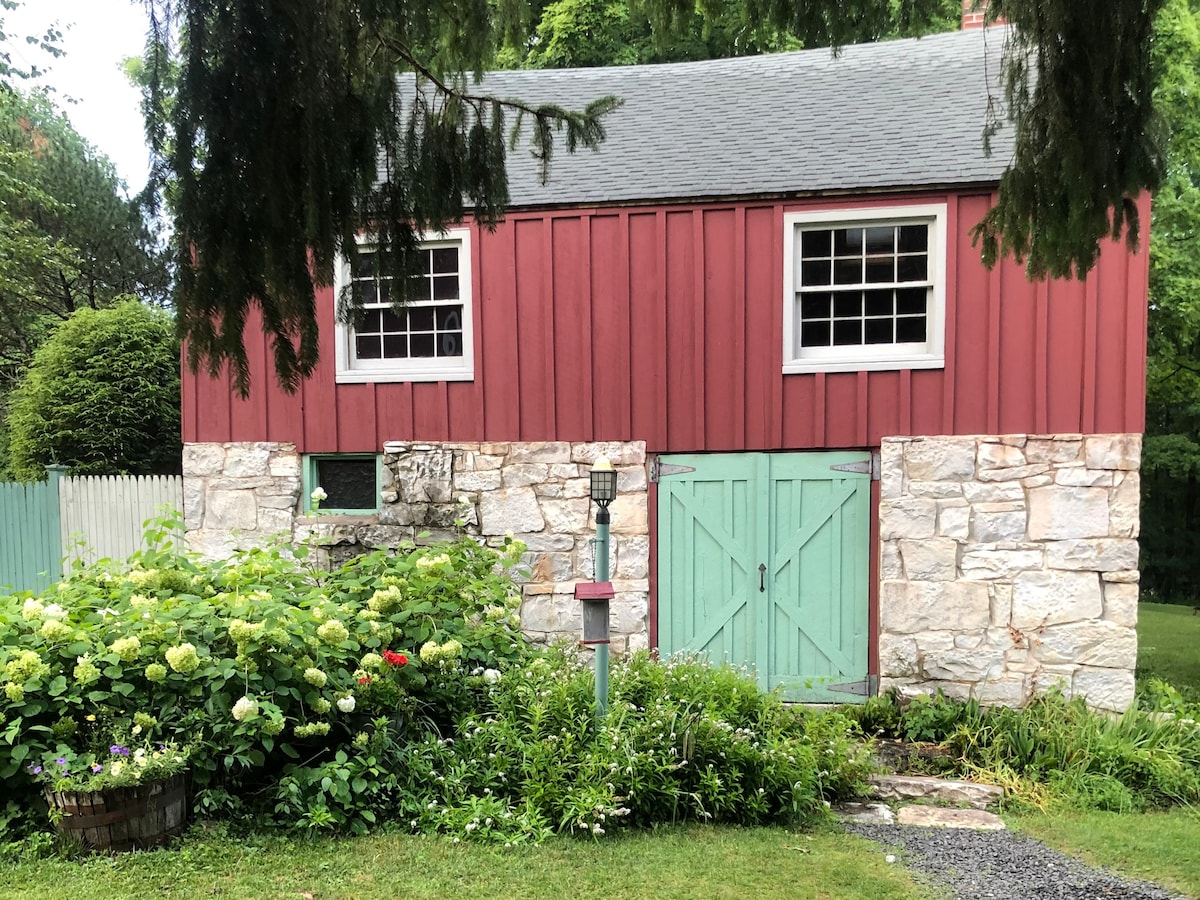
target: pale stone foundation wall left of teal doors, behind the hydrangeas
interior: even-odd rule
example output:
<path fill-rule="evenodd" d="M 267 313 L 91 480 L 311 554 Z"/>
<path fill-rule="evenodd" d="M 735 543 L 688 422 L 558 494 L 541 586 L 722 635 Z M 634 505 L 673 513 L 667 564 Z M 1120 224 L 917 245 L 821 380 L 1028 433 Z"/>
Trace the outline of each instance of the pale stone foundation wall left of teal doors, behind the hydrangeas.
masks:
<path fill-rule="evenodd" d="M 529 547 L 522 626 L 534 640 L 572 640 L 581 629 L 575 583 L 594 574 L 588 470 L 599 456 L 617 469 L 610 508 L 611 622 L 612 648 L 624 652 L 646 647 L 649 634 L 646 445 L 640 442 L 388 443 L 377 516 L 301 515 L 300 456 L 293 444 L 187 444 L 184 517 L 188 544 L 209 557 L 278 534 L 313 538 L 334 562 L 462 532 L 493 545 L 511 535 Z"/>

